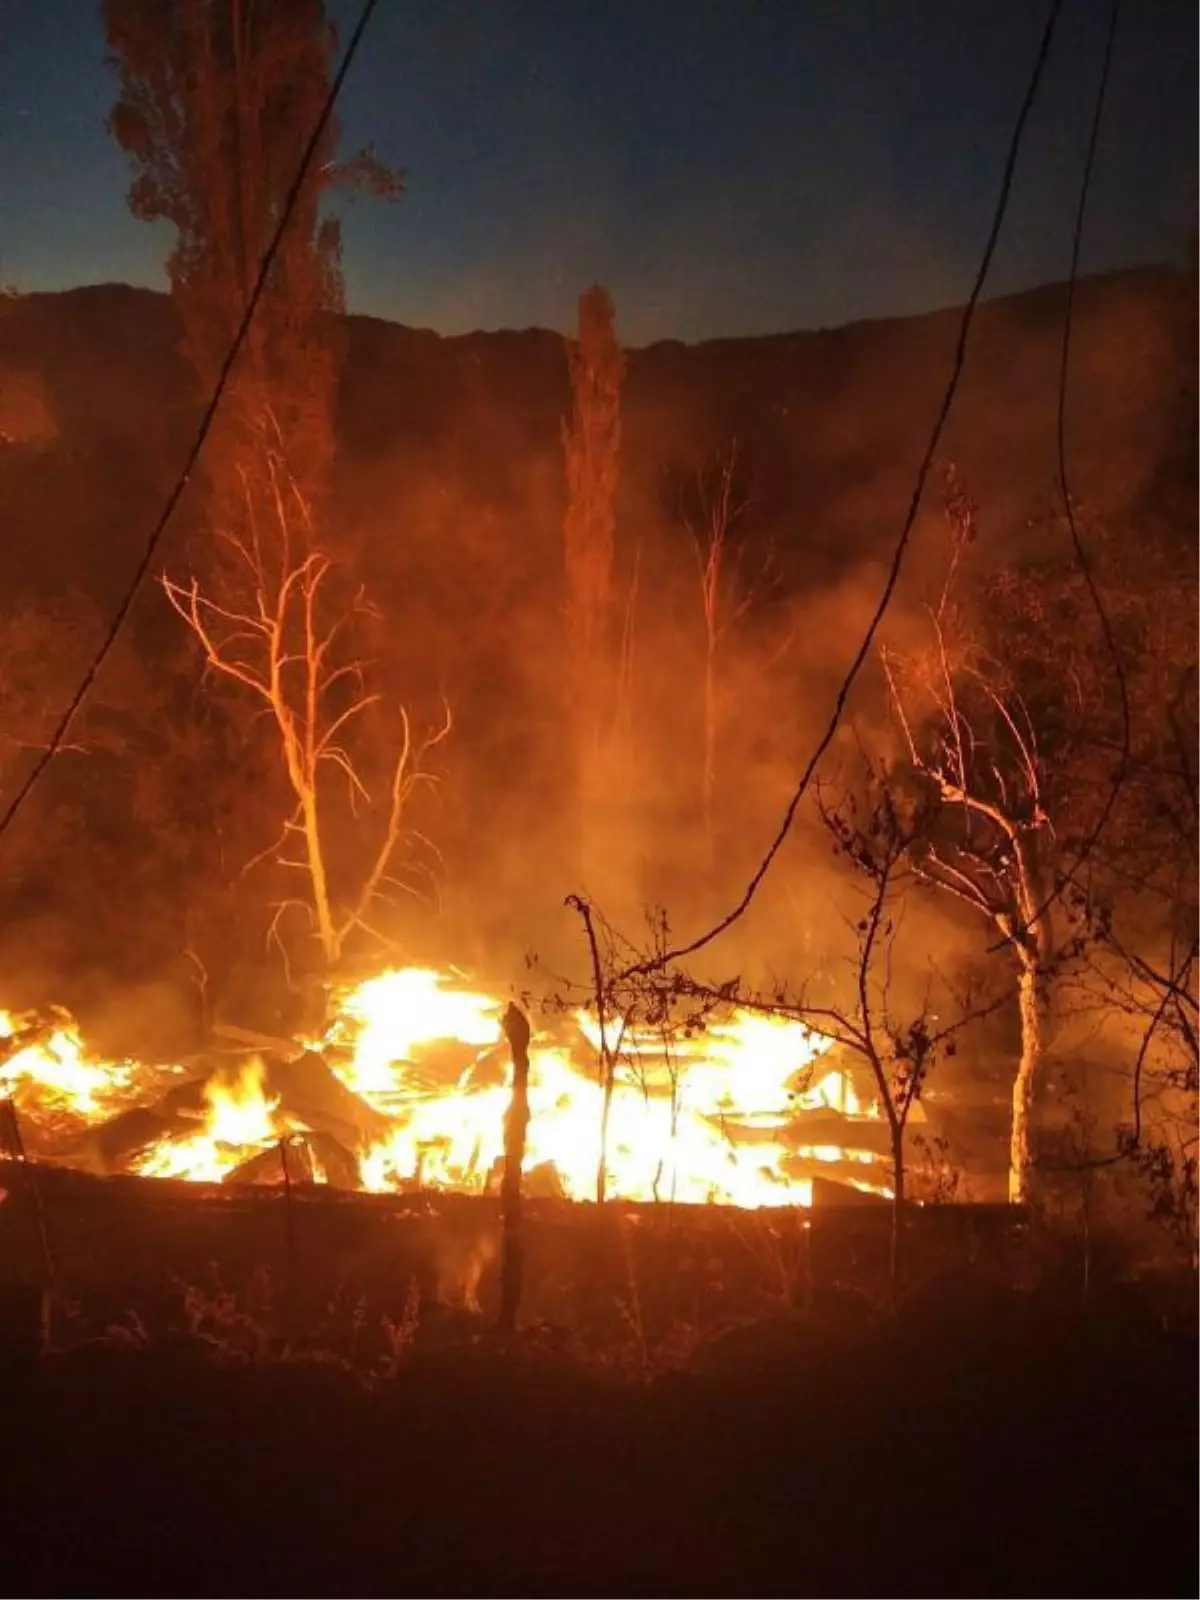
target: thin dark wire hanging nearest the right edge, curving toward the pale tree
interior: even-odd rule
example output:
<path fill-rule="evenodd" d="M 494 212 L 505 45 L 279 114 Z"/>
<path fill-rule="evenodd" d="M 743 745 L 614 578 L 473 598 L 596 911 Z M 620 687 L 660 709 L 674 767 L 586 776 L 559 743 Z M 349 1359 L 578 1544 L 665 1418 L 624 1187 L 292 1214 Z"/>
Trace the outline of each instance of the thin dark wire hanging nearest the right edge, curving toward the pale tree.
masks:
<path fill-rule="evenodd" d="M 1112 782 L 1109 786 L 1109 794 L 1101 808 L 1101 814 L 1096 818 L 1096 824 L 1091 832 L 1083 838 L 1070 869 L 1059 878 L 1054 888 L 1046 894 L 1045 901 L 1038 909 L 1026 920 L 1019 928 L 1013 928 L 1011 933 L 1002 939 L 998 944 L 989 947 L 989 954 L 1008 949 L 1013 939 L 1024 938 L 1030 928 L 1035 928 L 1051 906 L 1062 899 L 1062 894 L 1075 882 L 1080 867 L 1090 859 L 1096 845 L 1101 842 L 1104 829 L 1109 826 L 1109 818 L 1114 813 L 1117 800 L 1120 798 L 1122 789 L 1130 776 L 1130 766 L 1133 763 L 1133 717 L 1130 712 L 1130 683 L 1125 674 L 1125 662 L 1122 661 L 1122 653 L 1117 645 L 1117 635 L 1112 630 L 1112 621 L 1104 606 L 1096 578 L 1091 571 L 1091 562 L 1088 560 L 1088 552 L 1083 547 L 1083 536 L 1078 530 L 1078 522 L 1075 520 L 1075 506 L 1070 494 L 1070 482 L 1067 478 L 1067 378 L 1070 373 L 1070 338 L 1075 322 L 1075 290 L 1078 285 L 1078 262 L 1083 250 L 1083 219 L 1088 210 L 1088 194 L 1091 192 L 1091 174 L 1096 166 L 1096 147 L 1099 144 L 1101 122 L 1104 120 L 1104 102 L 1109 93 L 1109 77 L 1112 75 L 1112 58 L 1114 45 L 1117 40 L 1117 19 L 1120 16 L 1120 0 L 1112 0 L 1109 6 L 1109 34 L 1104 43 L 1104 62 L 1101 66 L 1099 85 L 1096 88 L 1096 104 L 1091 114 L 1091 131 L 1088 134 L 1088 154 L 1083 162 L 1083 179 L 1080 182 L 1078 205 L 1075 208 L 1075 229 L 1070 242 L 1070 274 L 1067 275 L 1067 306 L 1062 317 L 1062 354 L 1059 357 L 1058 370 L 1058 414 L 1056 414 L 1056 448 L 1058 448 L 1058 478 L 1059 490 L 1062 493 L 1062 509 L 1067 517 L 1067 528 L 1070 531 L 1070 544 L 1075 554 L 1075 565 L 1080 570 L 1083 584 L 1088 590 L 1088 597 L 1099 619 L 1101 632 L 1104 634 L 1104 645 L 1112 658 L 1112 670 L 1117 678 L 1117 691 L 1122 702 L 1122 746 L 1117 768 L 1112 774 Z"/>

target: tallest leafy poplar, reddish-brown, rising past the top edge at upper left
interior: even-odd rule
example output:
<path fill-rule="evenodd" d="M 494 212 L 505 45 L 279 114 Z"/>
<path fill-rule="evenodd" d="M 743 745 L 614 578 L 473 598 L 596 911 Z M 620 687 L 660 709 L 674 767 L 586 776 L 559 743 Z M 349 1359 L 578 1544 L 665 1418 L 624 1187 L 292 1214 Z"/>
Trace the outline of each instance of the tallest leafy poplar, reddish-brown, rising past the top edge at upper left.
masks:
<path fill-rule="evenodd" d="M 109 126 L 133 166 L 130 208 L 168 222 L 171 298 L 206 392 L 234 341 L 283 202 L 330 91 L 323 0 L 104 0 L 118 69 Z M 262 448 L 318 496 L 333 453 L 341 232 L 334 190 L 392 197 L 370 150 L 339 162 L 322 139 L 205 456 L 210 523 L 245 515 Z M 253 504 L 253 496 L 251 496 Z"/>

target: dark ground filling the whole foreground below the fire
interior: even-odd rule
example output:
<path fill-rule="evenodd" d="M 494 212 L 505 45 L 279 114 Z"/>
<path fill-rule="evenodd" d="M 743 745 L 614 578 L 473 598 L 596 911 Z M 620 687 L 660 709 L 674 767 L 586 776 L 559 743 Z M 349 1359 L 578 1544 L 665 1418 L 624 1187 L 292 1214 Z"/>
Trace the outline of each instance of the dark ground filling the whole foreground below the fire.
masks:
<path fill-rule="evenodd" d="M 886 1210 L 531 1205 L 506 1347 L 488 1202 L 6 1187 L 0 1600 L 1200 1594 L 1190 1274 L 934 1208 L 890 1309 Z"/>

